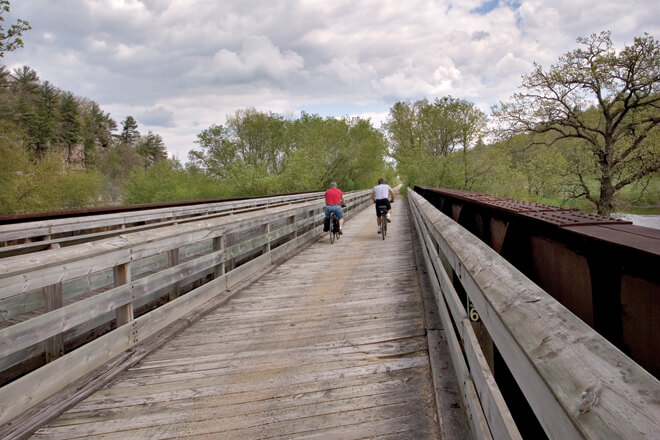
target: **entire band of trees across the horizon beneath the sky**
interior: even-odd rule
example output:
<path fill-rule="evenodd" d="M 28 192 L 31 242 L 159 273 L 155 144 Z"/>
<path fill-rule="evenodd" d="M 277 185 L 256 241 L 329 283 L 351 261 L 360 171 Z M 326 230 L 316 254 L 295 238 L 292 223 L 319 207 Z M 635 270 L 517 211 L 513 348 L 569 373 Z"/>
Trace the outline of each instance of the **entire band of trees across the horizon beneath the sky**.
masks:
<path fill-rule="evenodd" d="M 395 103 L 369 120 L 254 109 L 197 135 L 188 162 L 162 138 L 118 126 L 87 99 L 0 69 L 0 212 L 371 187 L 378 177 L 578 205 L 600 214 L 660 202 L 660 43 L 617 52 L 578 39 L 487 115 L 451 96 Z M 115 132 L 118 131 L 117 134 Z"/>

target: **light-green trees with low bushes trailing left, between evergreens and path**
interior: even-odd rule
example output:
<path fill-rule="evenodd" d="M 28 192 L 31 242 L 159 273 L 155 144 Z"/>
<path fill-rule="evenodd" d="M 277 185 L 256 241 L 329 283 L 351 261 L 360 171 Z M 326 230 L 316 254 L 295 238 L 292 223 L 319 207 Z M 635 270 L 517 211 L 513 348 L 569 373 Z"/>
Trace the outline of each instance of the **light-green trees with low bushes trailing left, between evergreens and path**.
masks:
<path fill-rule="evenodd" d="M 315 191 L 335 181 L 344 191 L 395 178 L 383 133 L 361 118 L 298 118 L 237 111 L 197 135 L 182 166 L 176 161 L 135 172 L 127 203 Z"/>

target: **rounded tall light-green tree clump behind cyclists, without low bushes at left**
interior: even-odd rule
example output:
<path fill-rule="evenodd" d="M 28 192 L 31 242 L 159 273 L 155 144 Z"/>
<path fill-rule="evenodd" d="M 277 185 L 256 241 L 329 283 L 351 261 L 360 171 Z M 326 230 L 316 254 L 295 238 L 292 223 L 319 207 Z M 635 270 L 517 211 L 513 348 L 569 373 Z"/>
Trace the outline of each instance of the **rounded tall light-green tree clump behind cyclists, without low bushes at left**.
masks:
<path fill-rule="evenodd" d="M 231 195 L 320 190 L 332 181 L 343 190 L 366 188 L 387 170 L 383 135 L 360 118 L 303 113 L 287 120 L 242 110 L 199 133 L 197 144 L 192 166 Z"/>

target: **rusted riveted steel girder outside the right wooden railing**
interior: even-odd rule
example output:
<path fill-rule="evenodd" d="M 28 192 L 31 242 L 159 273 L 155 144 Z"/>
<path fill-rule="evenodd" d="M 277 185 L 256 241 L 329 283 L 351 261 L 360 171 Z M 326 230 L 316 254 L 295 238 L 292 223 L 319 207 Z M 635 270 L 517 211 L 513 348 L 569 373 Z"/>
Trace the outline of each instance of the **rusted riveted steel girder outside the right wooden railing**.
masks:
<path fill-rule="evenodd" d="M 415 191 L 660 377 L 660 230 L 469 191 Z"/>

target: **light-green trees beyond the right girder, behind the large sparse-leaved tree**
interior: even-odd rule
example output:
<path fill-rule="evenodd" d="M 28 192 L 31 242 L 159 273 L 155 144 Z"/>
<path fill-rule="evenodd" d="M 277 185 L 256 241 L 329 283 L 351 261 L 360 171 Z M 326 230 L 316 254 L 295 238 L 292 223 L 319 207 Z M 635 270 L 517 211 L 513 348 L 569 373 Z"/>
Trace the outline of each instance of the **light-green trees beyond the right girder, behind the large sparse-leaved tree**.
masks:
<path fill-rule="evenodd" d="M 586 117 L 597 119 L 595 113 L 594 109 L 585 112 Z M 584 198 L 583 189 L 588 185 L 594 193 L 599 191 L 598 156 L 593 150 L 576 139 L 557 141 L 552 134 L 545 134 L 545 139 L 519 134 L 487 144 L 484 139 L 493 134 L 487 129 L 489 121 L 474 104 L 452 97 L 396 103 L 386 129 L 404 184 L 596 209 Z M 647 141 L 646 163 L 652 163 L 660 156 L 660 132 L 651 133 Z M 626 148 L 630 146 L 618 146 L 619 153 Z M 643 164 L 640 160 L 629 167 L 643 170 Z M 624 177 L 625 171 L 622 167 L 615 177 Z M 614 200 L 618 211 L 659 203 L 657 171 L 622 186 Z"/>

